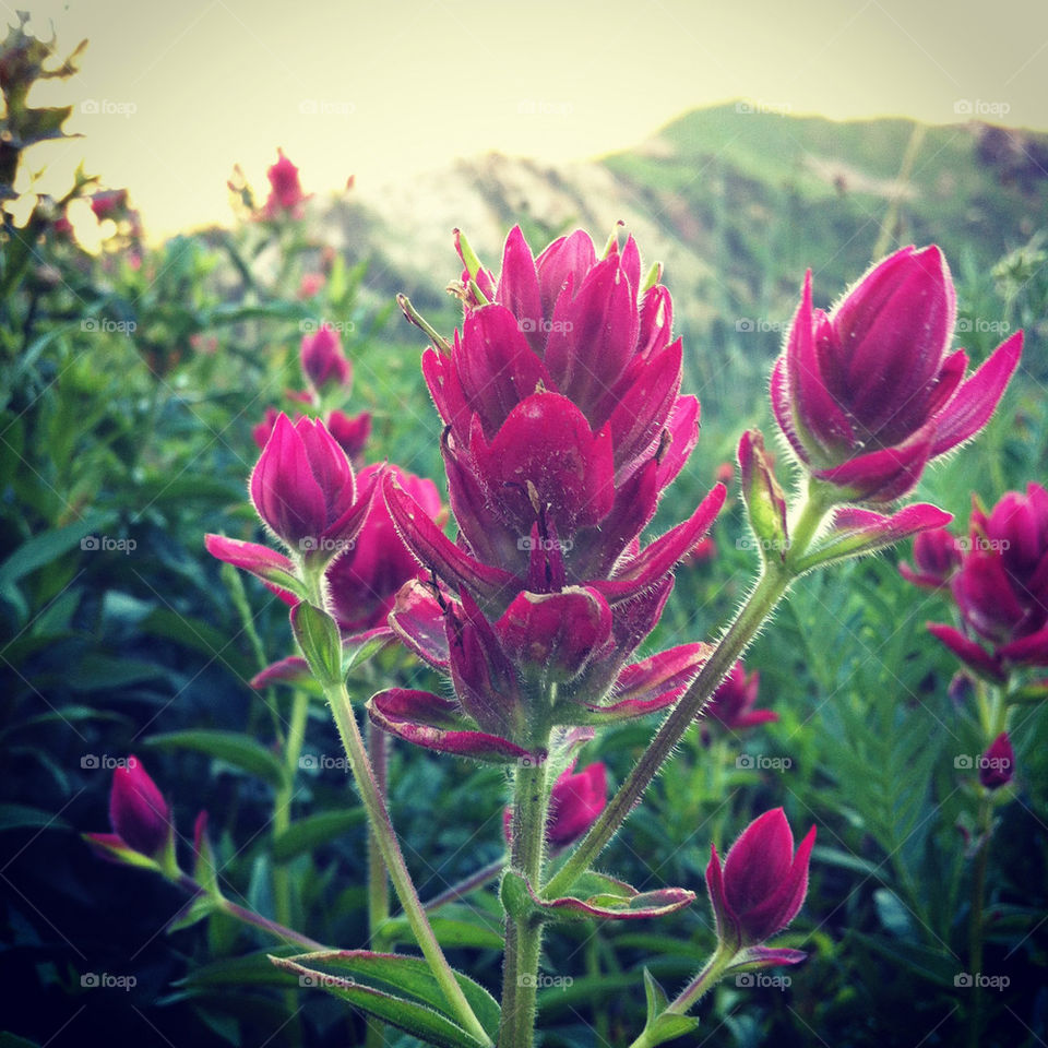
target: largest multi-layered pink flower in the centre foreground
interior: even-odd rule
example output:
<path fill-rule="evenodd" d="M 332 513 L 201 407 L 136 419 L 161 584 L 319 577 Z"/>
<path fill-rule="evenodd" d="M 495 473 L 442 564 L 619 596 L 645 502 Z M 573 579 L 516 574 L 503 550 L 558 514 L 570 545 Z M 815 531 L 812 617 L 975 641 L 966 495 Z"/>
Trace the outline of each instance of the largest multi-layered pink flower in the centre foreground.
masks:
<path fill-rule="evenodd" d="M 694 446 L 699 403 L 679 395 L 669 293 L 657 272 L 642 278 L 632 237 L 598 259 L 580 230 L 536 258 L 514 228 L 498 278 L 461 237 L 457 246 L 462 331 L 450 352 L 432 346 L 422 357 L 446 427 L 457 541 L 394 478 L 383 491 L 405 544 L 451 591 L 410 591 L 390 624 L 450 674 L 458 702 L 394 689 L 373 696 L 370 712 L 410 741 L 512 760 L 527 752 L 531 704 L 555 683 L 555 723 L 565 725 L 641 716 L 680 698 L 702 645 L 627 663 L 725 489 L 642 548 Z M 481 730 L 471 735 L 471 725 Z"/>

